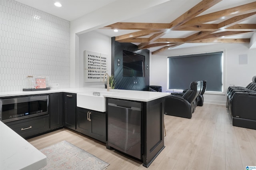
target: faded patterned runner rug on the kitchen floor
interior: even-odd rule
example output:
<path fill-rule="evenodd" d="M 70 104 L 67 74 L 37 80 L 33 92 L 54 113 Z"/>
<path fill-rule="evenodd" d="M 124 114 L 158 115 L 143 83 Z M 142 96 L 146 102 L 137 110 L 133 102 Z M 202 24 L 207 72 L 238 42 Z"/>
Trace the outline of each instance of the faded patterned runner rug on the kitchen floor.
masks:
<path fill-rule="evenodd" d="M 65 140 L 40 151 L 47 156 L 41 170 L 104 170 L 109 165 Z"/>

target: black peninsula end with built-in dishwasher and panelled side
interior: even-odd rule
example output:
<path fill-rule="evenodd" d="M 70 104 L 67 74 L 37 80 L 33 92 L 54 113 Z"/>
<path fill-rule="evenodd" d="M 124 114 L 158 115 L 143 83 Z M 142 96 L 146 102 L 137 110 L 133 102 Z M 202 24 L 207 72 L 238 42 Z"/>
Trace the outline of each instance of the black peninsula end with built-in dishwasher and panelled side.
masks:
<path fill-rule="evenodd" d="M 148 102 L 107 98 L 107 103 L 107 148 L 150 166 L 164 149 L 164 98 Z"/>

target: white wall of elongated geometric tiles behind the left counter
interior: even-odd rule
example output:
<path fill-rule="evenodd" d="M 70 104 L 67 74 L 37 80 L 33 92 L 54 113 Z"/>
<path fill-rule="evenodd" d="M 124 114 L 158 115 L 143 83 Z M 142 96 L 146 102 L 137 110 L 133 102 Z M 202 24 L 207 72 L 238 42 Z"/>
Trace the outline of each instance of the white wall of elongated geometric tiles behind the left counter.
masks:
<path fill-rule="evenodd" d="M 70 86 L 70 22 L 0 0 L 0 92 L 21 91 L 27 75 Z"/>

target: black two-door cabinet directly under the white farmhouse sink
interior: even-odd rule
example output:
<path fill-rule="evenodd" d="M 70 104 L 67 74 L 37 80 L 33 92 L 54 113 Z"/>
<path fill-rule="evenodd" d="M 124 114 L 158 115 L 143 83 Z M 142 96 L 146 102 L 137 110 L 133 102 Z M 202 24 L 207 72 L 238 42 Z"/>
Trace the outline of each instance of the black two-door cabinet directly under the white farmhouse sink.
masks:
<path fill-rule="evenodd" d="M 76 131 L 106 142 L 106 113 L 77 107 Z"/>

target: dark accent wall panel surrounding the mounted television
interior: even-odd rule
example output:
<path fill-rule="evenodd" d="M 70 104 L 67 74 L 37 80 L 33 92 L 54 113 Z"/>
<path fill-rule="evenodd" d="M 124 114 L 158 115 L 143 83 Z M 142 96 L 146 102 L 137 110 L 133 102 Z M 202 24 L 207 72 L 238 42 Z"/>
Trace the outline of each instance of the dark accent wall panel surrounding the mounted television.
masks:
<path fill-rule="evenodd" d="M 145 77 L 123 77 L 123 49 L 145 56 Z M 118 59 L 120 60 L 118 62 Z M 118 66 L 120 63 L 120 66 Z M 148 65 L 148 67 L 147 67 Z M 148 69 L 147 69 L 148 68 Z M 120 43 L 111 38 L 111 74 L 115 76 L 116 89 L 142 90 L 149 89 L 149 50 L 138 49 L 133 43 Z"/>

